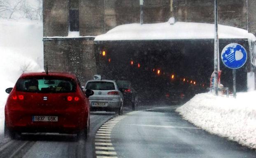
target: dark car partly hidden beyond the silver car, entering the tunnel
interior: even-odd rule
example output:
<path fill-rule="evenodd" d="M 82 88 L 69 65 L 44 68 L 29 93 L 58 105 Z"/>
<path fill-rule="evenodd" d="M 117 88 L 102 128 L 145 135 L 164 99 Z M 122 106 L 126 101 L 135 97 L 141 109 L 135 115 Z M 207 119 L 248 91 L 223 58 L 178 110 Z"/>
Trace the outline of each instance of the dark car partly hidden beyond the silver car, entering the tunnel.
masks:
<path fill-rule="evenodd" d="M 117 80 L 116 84 L 118 88 L 123 92 L 124 97 L 124 106 L 130 106 L 132 110 L 135 110 L 135 107 L 138 103 L 137 92 L 132 87 L 132 84 L 128 80 Z"/>

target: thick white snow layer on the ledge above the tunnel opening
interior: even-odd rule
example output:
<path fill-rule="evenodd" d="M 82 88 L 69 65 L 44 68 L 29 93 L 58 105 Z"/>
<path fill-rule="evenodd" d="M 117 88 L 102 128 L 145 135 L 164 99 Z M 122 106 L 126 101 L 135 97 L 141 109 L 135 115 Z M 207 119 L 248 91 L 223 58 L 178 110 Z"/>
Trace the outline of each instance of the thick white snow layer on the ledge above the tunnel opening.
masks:
<path fill-rule="evenodd" d="M 120 25 L 106 34 L 97 36 L 95 41 L 214 39 L 214 24 L 173 22 L 173 19 L 170 19 L 166 23 Z M 256 40 L 247 30 L 226 25 L 219 25 L 219 38 Z"/>

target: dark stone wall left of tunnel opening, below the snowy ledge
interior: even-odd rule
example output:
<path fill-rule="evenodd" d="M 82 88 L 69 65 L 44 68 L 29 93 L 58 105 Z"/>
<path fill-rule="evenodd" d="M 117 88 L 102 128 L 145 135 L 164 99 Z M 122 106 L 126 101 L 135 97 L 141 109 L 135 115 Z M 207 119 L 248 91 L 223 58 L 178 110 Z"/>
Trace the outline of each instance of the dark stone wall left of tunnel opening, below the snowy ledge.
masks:
<path fill-rule="evenodd" d="M 82 80 L 96 73 L 93 38 L 44 39 L 44 66 L 50 72 L 70 72 Z"/>

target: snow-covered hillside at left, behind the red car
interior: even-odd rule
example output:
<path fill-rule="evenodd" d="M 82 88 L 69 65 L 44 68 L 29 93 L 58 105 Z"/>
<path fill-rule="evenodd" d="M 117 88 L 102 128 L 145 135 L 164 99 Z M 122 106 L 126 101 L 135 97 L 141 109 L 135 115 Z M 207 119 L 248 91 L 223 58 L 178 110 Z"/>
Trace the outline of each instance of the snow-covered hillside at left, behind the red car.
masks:
<path fill-rule="evenodd" d="M 43 71 L 41 21 L 0 19 L 0 133 L 4 126 L 5 89 L 13 87 L 23 71 Z"/>

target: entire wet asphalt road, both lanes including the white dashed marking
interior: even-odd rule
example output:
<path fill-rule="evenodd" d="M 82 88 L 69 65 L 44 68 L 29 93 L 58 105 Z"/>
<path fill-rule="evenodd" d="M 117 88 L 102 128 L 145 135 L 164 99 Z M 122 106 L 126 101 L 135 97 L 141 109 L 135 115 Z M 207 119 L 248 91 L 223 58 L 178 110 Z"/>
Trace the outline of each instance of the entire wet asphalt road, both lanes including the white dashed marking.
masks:
<path fill-rule="evenodd" d="M 255 150 L 193 126 L 175 108 L 93 113 L 86 142 L 75 135 L 23 135 L 22 140 L 0 135 L 0 158 L 256 158 Z"/>

